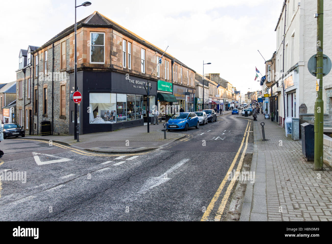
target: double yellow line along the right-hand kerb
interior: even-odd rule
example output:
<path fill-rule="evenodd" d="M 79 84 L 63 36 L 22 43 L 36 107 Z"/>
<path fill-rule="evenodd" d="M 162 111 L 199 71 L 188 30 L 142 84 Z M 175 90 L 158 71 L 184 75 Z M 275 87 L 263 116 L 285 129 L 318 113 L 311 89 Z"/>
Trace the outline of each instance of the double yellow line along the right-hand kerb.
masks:
<path fill-rule="evenodd" d="M 247 131 L 248 131 L 248 127 L 250 128 L 250 125 L 251 125 L 251 120 L 248 120 L 247 127 L 245 129 L 245 132 L 244 132 L 244 135 L 243 135 L 242 142 L 241 142 L 241 145 L 239 147 L 239 150 L 237 151 L 237 153 L 236 153 L 236 155 L 235 155 L 235 157 L 234 157 L 234 159 L 232 161 L 232 164 L 230 165 L 230 167 L 229 167 L 229 169 L 228 169 L 228 171 L 226 173 L 226 176 L 222 180 L 222 182 L 221 182 L 220 186 L 218 187 L 216 193 L 214 194 L 214 196 L 213 196 L 210 204 L 207 206 L 207 209 L 206 209 L 205 213 L 203 214 L 203 217 L 202 217 L 201 221 L 207 221 L 208 220 L 208 217 L 210 216 L 210 214 L 211 214 L 211 212 L 212 212 L 212 210 L 214 208 L 214 205 L 215 205 L 216 201 L 219 199 L 219 197 L 221 195 L 221 192 L 222 192 L 223 188 L 225 187 L 226 182 L 228 181 L 228 176 L 232 173 L 232 170 L 233 170 L 233 168 L 235 166 L 235 163 L 236 163 L 236 161 L 237 161 L 237 159 L 238 159 L 238 157 L 240 155 L 240 152 L 242 150 L 244 141 L 246 141 L 245 142 L 244 150 L 242 152 L 239 164 L 238 164 L 237 169 L 236 169 L 236 171 L 240 171 L 240 169 L 242 167 L 242 163 L 243 163 L 245 151 L 247 150 L 248 138 L 249 138 L 249 132 L 247 132 Z M 230 193 L 231 193 L 231 190 L 232 190 L 234 184 L 235 184 L 235 180 L 233 181 L 233 179 L 232 179 L 231 183 L 229 184 L 229 186 L 228 186 L 228 188 L 227 188 L 227 190 L 226 190 L 226 192 L 224 194 L 223 199 L 221 200 L 221 204 L 219 205 L 219 208 L 217 210 L 217 213 L 216 213 L 216 216 L 215 216 L 214 220 L 220 220 L 221 215 L 222 215 L 222 213 L 223 213 L 223 211 L 225 209 L 226 203 L 228 201 L 228 198 L 230 196 Z"/>

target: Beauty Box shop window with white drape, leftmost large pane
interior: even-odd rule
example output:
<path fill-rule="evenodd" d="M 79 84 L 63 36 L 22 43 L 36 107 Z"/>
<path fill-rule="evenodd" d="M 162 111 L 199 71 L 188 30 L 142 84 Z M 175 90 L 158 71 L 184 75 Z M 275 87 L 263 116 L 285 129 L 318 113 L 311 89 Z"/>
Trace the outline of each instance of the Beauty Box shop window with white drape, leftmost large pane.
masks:
<path fill-rule="evenodd" d="M 90 93 L 90 123 L 116 122 L 116 97 L 114 93 Z"/>

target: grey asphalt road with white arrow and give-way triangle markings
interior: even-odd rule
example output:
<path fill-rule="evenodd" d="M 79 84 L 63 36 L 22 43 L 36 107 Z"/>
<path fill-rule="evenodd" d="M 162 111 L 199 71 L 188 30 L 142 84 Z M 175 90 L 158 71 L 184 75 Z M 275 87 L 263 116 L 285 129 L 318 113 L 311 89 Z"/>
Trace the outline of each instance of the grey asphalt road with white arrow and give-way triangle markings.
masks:
<path fill-rule="evenodd" d="M 26 172 L 26 183 L 1 181 L 0 220 L 214 220 L 229 181 L 220 184 L 233 161 L 236 168 L 251 123 L 235 117 L 179 131 L 187 137 L 141 154 L 6 139 L 0 173 Z"/>

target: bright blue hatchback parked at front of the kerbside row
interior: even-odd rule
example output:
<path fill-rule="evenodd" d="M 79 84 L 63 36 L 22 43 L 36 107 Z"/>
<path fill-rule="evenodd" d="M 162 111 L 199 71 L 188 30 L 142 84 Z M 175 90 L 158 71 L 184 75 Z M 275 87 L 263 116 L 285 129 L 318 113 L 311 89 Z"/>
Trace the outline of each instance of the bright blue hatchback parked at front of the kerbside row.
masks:
<path fill-rule="evenodd" d="M 173 115 L 166 123 L 168 131 L 171 129 L 184 129 L 187 131 L 189 127 L 196 127 L 196 129 L 200 127 L 200 122 L 195 113 L 187 112 Z"/>

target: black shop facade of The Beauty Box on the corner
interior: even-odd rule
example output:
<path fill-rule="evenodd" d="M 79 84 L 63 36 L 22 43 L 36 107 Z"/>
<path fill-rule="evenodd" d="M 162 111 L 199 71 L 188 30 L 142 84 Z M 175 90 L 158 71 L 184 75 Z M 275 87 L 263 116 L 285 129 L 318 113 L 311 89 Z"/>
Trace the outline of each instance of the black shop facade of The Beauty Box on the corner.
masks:
<path fill-rule="evenodd" d="M 150 96 L 146 89 L 149 83 Z M 74 76 L 70 75 L 70 88 Z M 157 81 L 118 72 L 77 72 L 82 94 L 77 117 L 80 134 L 113 131 L 143 125 L 156 105 Z M 147 101 L 149 99 L 149 110 Z M 69 102 L 69 133 L 74 132 L 74 103 Z"/>

